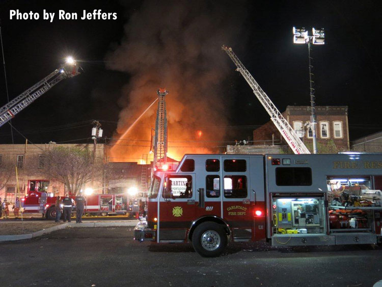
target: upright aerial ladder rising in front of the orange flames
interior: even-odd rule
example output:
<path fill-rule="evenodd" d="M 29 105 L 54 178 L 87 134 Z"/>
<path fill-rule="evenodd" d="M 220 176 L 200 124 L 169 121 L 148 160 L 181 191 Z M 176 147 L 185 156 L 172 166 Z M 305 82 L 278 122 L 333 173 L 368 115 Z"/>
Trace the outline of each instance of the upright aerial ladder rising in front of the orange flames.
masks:
<path fill-rule="evenodd" d="M 166 89 L 158 89 L 158 110 L 156 112 L 155 137 L 154 137 L 154 168 L 167 167 L 167 112 L 165 96 Z"/>

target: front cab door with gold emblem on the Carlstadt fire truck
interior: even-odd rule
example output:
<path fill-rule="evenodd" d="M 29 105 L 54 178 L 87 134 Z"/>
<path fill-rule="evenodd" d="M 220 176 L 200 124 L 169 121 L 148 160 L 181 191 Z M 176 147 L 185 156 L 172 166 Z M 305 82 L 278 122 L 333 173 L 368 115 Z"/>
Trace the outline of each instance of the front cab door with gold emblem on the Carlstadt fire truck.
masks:
<path fill-rule="evenodd" d="M 159 195 L 158 240 L 183 241 L 187 228 L 195 219 L 196 190 L 195 174 L 168 174 Z M 167 190 L 167 192 L 165 192 Z"/>

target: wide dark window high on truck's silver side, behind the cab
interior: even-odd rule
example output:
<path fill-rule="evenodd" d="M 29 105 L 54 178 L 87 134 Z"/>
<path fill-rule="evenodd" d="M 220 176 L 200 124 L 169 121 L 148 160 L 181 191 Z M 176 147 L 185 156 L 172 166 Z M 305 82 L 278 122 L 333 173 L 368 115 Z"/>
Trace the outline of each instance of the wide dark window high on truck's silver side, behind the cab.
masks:
<path fill-rule="evenodd" d="M 311 186 L 312 169 L 310 167 L 278 167 L 276 168 L 276 185 Z"/>

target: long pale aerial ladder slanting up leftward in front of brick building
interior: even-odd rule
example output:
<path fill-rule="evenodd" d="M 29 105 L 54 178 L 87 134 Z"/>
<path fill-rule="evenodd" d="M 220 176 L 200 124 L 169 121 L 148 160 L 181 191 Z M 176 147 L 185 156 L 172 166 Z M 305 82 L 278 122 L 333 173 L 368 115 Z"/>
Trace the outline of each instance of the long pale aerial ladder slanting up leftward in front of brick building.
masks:
<path fill-rule="evenodd" d="M 245 81 L 247 81 L 247 83 L 251 86 L 254 94 L 261 102 L 265 110 L 268 112 L 270 119 L 272 120 L 272 122 L 274 122 L 277 129 L 284 137 L 285 141 L 288 143 L 293 152 L 295 154 L 310 153 L 310 151 L 302 142 L 302 140 L 299 139 L 297 134 L 294 132 L 293 128 L 290 126 L 288 121 L 279 112 L 279 110 L 269 99 L 266 93 L 260 88 L 259 84 L 255 81 L 251 73 L 240 62 L 239 58 L 237 58 L 235 53 L 233 53 L 232 48 L 223 45 L 222 49 L 226 51 L 228 56 L 235 63 L 237 67 L 236 71 L 240 72 L 240 74 L 244 77 Z"/>

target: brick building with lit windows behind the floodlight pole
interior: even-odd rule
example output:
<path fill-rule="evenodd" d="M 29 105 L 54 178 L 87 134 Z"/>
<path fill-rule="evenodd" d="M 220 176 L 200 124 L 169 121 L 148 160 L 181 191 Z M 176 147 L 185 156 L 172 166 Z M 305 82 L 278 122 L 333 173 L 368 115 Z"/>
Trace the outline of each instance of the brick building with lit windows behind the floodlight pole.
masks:
<path fill-rule="evenodd" d="M 326 144 L 329 140 L 333 140 L 338 149 L 349 150 L 347 111 L 347 106 L 316 106 L 316 137 L 318 143 Z M 313 135 L 309 126 L 311 107 L 287 106 L 282 115 L 303 142 L 312 145 Z M 278 129 L 271 121 L 253 131 L 255 142 L 272 140 L 272 137 L 282 139 Z M 283 140 L 283 142 L 285 141 Z"/>

